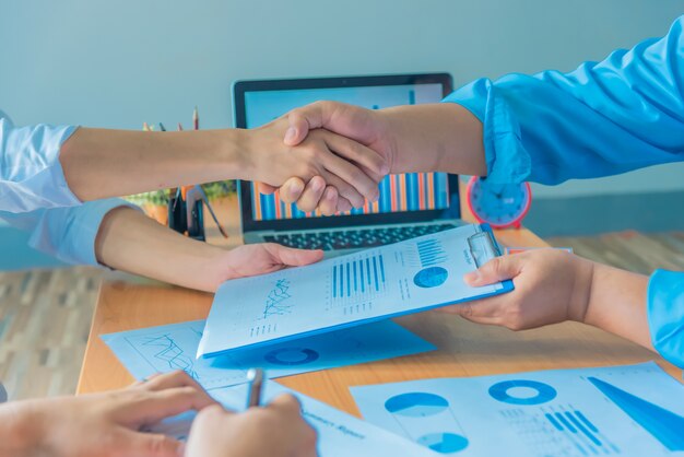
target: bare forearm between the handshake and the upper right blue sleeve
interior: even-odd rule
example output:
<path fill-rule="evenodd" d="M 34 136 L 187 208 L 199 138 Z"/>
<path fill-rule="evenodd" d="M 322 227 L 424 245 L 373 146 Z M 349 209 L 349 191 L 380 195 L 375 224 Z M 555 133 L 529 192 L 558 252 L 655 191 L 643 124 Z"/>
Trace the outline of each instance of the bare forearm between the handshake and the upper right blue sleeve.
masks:
<path fill-rule="evenodd" d="M 381 113 L 388 118 L 389 138 L 393 139 L 392 173 L 487 174 L 482 122 L 462 106 L 412 105 Z"/>

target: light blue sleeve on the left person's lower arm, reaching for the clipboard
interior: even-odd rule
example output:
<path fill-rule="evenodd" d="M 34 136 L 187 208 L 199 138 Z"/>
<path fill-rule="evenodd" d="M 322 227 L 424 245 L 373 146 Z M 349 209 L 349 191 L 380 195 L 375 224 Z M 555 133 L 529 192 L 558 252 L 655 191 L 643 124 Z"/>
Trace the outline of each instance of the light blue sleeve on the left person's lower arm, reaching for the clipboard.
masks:
<path fill-rule="evenodd" d="M 86 202 L 21 214 L 0 212 L 0 220 L 31 233 L 31 247 L 71 265 L 97 266 L 95 238 L 105 215 L 115 208 L 134 207 L 120 199 Z"/>

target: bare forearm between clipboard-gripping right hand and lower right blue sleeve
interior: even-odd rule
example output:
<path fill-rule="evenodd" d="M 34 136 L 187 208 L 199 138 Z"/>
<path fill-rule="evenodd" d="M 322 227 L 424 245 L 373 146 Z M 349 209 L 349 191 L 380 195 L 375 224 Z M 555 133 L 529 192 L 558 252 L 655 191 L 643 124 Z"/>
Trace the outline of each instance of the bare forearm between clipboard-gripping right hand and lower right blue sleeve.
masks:
<path fill-rule="evenodd" d="M 642 274 L 594 263 L 585 324 L 599 327 L 653 350 L 648 326 Z"/>

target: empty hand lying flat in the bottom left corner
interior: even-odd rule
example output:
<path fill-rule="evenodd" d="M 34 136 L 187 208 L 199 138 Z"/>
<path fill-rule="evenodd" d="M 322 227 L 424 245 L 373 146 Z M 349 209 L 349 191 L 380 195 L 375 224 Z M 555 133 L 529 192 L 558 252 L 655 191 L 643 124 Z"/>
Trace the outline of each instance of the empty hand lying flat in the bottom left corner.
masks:
<path fill-rule="evenodd" d="M 26 400 L 0 408 L 0 456 L 180 457 L 184 445 L 143 433 L 163 419 L 215 401 L 184 372 L 121 390 Z"/>

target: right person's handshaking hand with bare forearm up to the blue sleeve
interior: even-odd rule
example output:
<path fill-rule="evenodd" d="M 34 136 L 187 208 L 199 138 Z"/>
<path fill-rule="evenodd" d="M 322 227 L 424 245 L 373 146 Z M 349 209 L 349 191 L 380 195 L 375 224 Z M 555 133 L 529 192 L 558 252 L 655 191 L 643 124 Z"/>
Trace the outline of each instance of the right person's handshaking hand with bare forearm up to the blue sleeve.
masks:
<path fill-rule="evenodd" d="M 338 102 L 318 102 L 285 115 L 290 128 L 285 144 L 298 144 L 314 129 L 323 128 L 377 152 L 389 173 L 445 172 L 484 176 L 486 166 L 482 124 L 468 109 L 452 103 L 397 106 L 379 110 Z M 330 208 L 327 188 L 291 179 L 281 198 L 299 208 Z M 321 200 L 322 198 L 322 200 Z"/>

